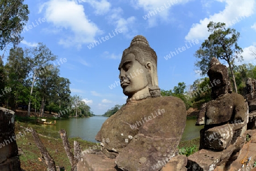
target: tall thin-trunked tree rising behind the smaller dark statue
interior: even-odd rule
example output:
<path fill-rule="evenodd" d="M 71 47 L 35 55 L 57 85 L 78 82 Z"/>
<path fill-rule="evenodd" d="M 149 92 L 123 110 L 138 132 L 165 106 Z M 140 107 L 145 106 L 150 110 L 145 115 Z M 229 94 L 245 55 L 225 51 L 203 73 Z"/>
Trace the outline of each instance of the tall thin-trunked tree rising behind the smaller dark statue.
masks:
<path fill-rule="evenodd" d="M 207 25 L 208 31 L 211 33 L 202 44 L 199 50 L 196 51 L 195 57 L 197 68 L 200 68 L 201 75 L 204 76 L 208 69 L 212 57 L 225 60 L 228 62 L 230 73 L 233 80 L 234 90 L 237 93 L 236 78 L 233 72 L 234 60 L 242 61 L 242 48 L 237 45 L 237 40 L 240 33 L 234 28 L 226 28 L 225 23 L 210 22 Z"/>

